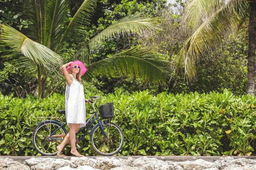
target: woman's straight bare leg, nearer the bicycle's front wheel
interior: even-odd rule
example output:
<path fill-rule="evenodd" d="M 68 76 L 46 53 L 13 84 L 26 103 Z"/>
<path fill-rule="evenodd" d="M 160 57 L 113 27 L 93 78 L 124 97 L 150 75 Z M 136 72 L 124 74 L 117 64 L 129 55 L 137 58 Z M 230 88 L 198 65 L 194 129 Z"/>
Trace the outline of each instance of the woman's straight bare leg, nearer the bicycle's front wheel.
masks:
<path fill-rule="evenodd" d="M 69 139 L 71 144 L 71 153 L 75 156 L 83 156 L 76 150 L 76 132 L 78 132 L 80 124 L 70 123 Z"/>

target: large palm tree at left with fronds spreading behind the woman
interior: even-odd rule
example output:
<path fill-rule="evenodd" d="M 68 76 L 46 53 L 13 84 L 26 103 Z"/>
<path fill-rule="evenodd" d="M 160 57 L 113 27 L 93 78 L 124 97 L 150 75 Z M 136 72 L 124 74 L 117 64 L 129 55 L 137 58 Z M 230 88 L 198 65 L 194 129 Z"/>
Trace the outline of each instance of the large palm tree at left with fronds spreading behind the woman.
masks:
<path fill-rule="evenodd" d="M 157 27 L 154 18 L 128 16 L 84 41 L 83 32 L 90 30 L 89 24 L 96 0 L 84 0 L 67 23 L 69 4 L 70 0 L 25 0 L 17 5 L 26 11 L 26 17 L 32 22 L 27 36 L 11 26 L 0 25 L 0 43 L 10 48 L 2 57 L 19 68 L 29 69 L 32 74 L 37 72 L 38 97 L 40 94 L 42 97 L 47 96 L 55 77 L 60 75 L 60 67 L 63 58 L 67 57 L 67 50 L 74 49 L 78 43 L 79 48 L 76 48 L 71 59 L 79 58 L 87 64 L 90 73 L 85 77 L 87 79 L 103 75 L 132 75 L 158 82 L 166 78 L 168 62 L 147 48 L 134 47 L 113 57 L 90 63 L 90 54 L 102 41 L 121 34 L 140 34 L 147 29 L 154 29 Z M 49 77 L 52 82 L 44 94 L 45 82 Z"/>

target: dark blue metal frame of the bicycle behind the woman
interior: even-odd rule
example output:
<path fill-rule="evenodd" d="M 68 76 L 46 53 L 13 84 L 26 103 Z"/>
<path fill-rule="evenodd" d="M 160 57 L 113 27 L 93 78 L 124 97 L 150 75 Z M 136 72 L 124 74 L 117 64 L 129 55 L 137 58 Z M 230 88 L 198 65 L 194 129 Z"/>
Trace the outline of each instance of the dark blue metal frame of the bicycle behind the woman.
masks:
<path fill-rule="evenodd" d="M 97 99 L 93 102 L 93 110 L 94 110 L 94 113 L 93 113 L 93 115 L 87 120 L 86 125 L 93 119 L 94 116 L 96 116 L 96 117 L 90 122 L 90 124 L 89 124 L 89 126 L 87 127 L 87 129 L 86 129 L 84 135 L 83 135 L 81 138 L 79 138 L 79 141 L 82 140 L 82 139 L 84 139 L 84 137 L 87 135 L 87 133 L 88 133 L 90 127 L 93 125 L 93 123 L 96 121 L 96 119 L 97 119 L 97 122 L 98 122 L 96 125 L 99 124 L 100 130 L 102 131 L 103 135 L 104 135 L 106 138 L 108 137 L 107 134 L 105 133 L 104 129 L 103 129 L 102 123 L 101 123 L 101 121 L 99 120 L 98 113 L 97 113 L 97 111 L 96 111 L 96 109 L 95 109 L 95 107 L 94 107 L 95 103 L 98 102 L 98 100 L 99 100 L 99 98 L 97 98 Z M 57 121 L 55 121 L 55 122 L 57 122 Z M 108 122 L 108 121 L 102 121 L 102 122 L 105 123 L 105 122 Z M 66 124 L 67 124 L 67 123 L 64 123 L 63 125 L 61 125 L 60 127 L 58 127 L 58 129 L 56 129 L 54 132 L 52 132 L 52 134 L 50 134 L 49 137 L 65 137 L 65 136 L 67 135 L 67 133 L 68 133 L 67 130 L 66 130 L 66 128 L 64 127 Z M 39 125 L 39 124 L 38 124 L 38 125 Z M 96 125 L 93 126 L 93 128 L 96 127 Z M 36 126 L 36 127 L 37 127 L 37 126 Z M 65 134 L 54 135 L 54 133 L 55 133 L 57 130 L 59 130 L 61 127 L 64 127 L 64 129 L 65 129 Z M 84 128 L 85 128 L 85 127 L 82 127 L 82 128 L 76 133 L 76 135 L 79 134 L 82 130 L 84 130 Z M 93 131 L 93 130 L 91 130 L 91 131 Z M 92 135 L 92 134 L 90 133 L 90 135 Z M 64 140 L 64 139 L 58 139 L 58 138 L 57 138 L 57 139 L 55 139 L 55 140 Z"/>

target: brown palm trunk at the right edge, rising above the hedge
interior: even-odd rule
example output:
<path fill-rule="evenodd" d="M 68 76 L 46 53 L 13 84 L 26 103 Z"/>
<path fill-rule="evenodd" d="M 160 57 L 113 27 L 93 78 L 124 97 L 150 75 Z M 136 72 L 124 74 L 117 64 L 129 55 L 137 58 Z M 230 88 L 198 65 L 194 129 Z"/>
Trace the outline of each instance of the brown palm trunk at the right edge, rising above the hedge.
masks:
<path fill-rule="evenodd" d="M 255 48 L 256 48 L 256 2 L 250 3 L 250 20 L 249 20 L 249 40 L 248 40 L 248 91 L 247 94 L 254 95 L 254 65 L 255 65 Z"/>

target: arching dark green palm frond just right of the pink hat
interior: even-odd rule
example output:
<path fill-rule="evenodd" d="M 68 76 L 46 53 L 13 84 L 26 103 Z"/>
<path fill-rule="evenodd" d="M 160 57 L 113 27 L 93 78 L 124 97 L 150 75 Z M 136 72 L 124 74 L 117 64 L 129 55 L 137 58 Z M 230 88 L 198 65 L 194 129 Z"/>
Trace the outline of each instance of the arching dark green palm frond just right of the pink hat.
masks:
<path fill-rule="evenodd" d="M 136 46 L 88 65 L 85 78 L 131 76 L 160 82 L 169 76 L 170 63 L 148 48 Z"/>

